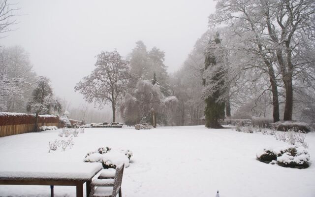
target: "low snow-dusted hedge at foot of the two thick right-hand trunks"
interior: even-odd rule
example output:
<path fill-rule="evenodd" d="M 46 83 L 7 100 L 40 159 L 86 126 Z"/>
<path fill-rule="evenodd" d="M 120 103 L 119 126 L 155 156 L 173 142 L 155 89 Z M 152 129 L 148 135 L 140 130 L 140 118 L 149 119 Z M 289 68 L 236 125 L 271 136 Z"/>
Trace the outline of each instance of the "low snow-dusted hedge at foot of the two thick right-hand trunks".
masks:
<path fill-rule="evenodd" d="M 274 128 L 278 131 L 287 131 L 294 129 L 295 131 L 309 132 L 310 125 L 298 121 L 278 121 L 273 124 Z"/>

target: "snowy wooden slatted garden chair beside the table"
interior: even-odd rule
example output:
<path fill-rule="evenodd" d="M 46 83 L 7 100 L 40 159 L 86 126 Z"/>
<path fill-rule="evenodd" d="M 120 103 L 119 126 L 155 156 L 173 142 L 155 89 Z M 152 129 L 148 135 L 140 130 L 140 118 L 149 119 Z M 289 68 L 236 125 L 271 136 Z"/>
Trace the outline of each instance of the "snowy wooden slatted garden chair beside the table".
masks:
<path fill-rule="evenodd" d="M 116 167 L 115 177 L 106 177 L 94 179 L 91 183 L 90 197 L 122 197 L 122 179 L 125 164 Z M 96 187 L 96 189 L 95 189 Z"/>

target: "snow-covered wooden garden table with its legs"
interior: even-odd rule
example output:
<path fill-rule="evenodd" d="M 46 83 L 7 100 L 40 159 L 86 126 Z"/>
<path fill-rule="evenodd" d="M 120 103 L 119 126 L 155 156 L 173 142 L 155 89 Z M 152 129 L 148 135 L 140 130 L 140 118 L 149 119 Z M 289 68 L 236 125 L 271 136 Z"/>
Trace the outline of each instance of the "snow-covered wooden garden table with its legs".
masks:
<path fill-rule="evenodd" d="M 0 163 L 0 185 L 76 186 L 77 197 L 83 197 L 86 182 L 87 197 L 93 176 L 102 169 L 100 163 Z"/>

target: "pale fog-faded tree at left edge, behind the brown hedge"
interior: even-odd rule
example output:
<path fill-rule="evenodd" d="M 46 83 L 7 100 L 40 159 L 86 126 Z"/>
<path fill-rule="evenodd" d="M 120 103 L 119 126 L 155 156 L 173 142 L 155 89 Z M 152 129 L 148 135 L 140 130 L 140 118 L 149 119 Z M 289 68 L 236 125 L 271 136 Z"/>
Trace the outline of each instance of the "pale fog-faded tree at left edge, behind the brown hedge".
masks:
<path fill-rule="evenodd" d="M 35 75 L 29 55 L 23 48 L 0 48 L 1 111 L 24 112 L 26 101 L 32 94 Z"/>

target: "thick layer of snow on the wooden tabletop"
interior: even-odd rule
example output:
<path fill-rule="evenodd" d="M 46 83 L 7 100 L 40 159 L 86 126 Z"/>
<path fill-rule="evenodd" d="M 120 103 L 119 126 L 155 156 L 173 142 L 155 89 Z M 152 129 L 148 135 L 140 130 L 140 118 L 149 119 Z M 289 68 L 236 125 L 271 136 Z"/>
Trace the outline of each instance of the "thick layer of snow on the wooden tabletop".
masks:
<path fill-rule="evenodd" d="M 0 163 L 1 178 L 90 179 L 102 169 L 100 163 Z"/>

